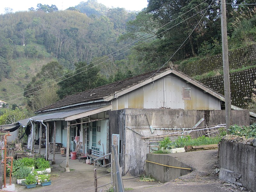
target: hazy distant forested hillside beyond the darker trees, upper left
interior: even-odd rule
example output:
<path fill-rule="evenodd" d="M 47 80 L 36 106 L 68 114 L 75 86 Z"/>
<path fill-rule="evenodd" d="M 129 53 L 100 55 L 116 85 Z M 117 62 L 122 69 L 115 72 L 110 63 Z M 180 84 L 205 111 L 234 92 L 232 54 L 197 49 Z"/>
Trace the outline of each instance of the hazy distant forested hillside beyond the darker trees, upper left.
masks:
<path fill-rule="evenodd" d="M 122 48 L 124 43 L 117 38 L 137 14 L 124 8 L 108 9 L 95 0 L 65 11 L 42 4 L 29 10 L 0 15 L 1 99 L 24 91 L 50 61 L 58 61 L 66 71 L 74 70 L 80 61 L 89 64 Z M 124 59 L 127 52 L 120 53 L 127 49 L 117 51 L 115 60 Z M 5 101 L 19 97 L 22 94 Z M 24 101 L 13 102 L 20 105 Z"/>

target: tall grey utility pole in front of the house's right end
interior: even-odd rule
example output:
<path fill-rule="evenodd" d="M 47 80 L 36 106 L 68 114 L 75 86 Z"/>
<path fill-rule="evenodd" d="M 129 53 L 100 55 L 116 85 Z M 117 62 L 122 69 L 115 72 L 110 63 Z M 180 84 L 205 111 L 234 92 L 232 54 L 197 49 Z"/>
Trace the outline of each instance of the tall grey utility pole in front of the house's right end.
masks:
<path fill-rule="evenodd" d="M 221 14 L 221 40 L 222 40 L 222 61 L 224 77 L 224 95 L 225 95 L 225 112 L 226 112 L 226 130 L 231 125 L 231 98 L 228 66 L 228 36 L 227 36 L 227 18 L 226 18 L 226 0 L 220 1 Z"/>

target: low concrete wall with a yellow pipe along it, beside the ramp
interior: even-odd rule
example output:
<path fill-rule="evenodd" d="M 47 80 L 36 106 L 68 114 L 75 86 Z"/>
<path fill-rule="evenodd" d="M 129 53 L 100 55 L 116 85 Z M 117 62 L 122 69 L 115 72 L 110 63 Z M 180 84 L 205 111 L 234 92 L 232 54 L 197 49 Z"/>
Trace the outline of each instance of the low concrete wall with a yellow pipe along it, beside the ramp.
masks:
<path fill-rule="evenodd" d="M 147 161 L 164 165 L 171 165 L 174 167 L 191 168 L 188 165 L 178 161 L 174 157 L 166 154 L 147 154 Z M 146 162 L 146 174 L 162 183 L 177 179 L 182 175 L 188 174 L 189 172 L 191 171 Z"/>

